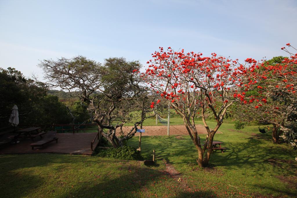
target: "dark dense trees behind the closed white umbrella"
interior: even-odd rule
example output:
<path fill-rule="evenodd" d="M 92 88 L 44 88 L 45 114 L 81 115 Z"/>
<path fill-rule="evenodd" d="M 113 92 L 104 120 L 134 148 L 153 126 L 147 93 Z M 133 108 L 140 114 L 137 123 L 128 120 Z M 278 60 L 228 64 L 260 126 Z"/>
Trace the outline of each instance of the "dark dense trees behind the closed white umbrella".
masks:
<path fill-rule="evenodd" d="M 69 123 L 66 106 L 56 96 L 46 96 L 45 87 L 14 68 L 0 68 L 0 91 L 2 126 L 8 124 L 14 104 L 18 106 L 20 124 Z"/>

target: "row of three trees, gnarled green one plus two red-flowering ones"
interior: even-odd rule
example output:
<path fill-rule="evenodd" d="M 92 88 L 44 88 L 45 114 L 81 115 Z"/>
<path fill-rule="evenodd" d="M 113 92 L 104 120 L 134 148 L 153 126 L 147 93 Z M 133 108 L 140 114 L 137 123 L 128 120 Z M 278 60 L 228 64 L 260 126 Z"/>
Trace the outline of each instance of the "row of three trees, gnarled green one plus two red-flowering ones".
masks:
<path fill-rule="evenodd" d="M 290 46 L 290 45 L 288 45 Z M 59 88 L 80 99 L 91 113 L 99 131 L 114 146 L 133 137 L 142 122 L 154 116 L 163 104 L 183 118 L 197 152 L 200 167 L 208 165 L 214 135 L 222 125 L 228 108 L 235 107 L 247 121 L 257 120 L 274 125 L 274 142 L 283 137 L 296 142 L 296 56 L 278 57 L 258 62 L 247 58 L 244 63 L 212 53 L 175 52 L 170 47 L 152 54 L 145 72 L 138 61 L 108 58 L 103 64 L 83 56 L 44 60 L 42 87 Z M 35 79 L 37 81 L 37 79 Z M 210 129 L 206 115 L 212 114 L 217 125 Z M 241 115 L 242 115 L 241 114 Z M 200 116 L 207 130 L 201 141 L 195 128 Z M 127 134 L 124 124 L 133 123 Z M 121 131 L 116 133 L 116 129 Z"/>

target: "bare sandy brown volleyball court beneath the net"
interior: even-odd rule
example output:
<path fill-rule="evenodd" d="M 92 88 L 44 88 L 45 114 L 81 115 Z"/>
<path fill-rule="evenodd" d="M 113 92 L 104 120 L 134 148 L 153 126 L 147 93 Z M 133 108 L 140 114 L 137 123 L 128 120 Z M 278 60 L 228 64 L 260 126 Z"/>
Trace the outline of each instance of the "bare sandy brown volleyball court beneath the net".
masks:
<path fill-rule="evenodd" d="M 196 129 L 198 134 L 207 134 L 207 131 L 204 126 L 196 124 Z M 132 129 L 132 126 L 123 127 L 125 134 Z M 154 135 L 167 135 L 167 126 L 143 126 L 143 129 L 146 130 L 145 133 L 142 133 L 142 136 L 154 136 Z M 119 134 L 119 129 L 116 131 Z M 217 132 L 222 133 L 222 132 Z M 139 133 L 136 133 L 135 136 L 138 136 Z M 171 125 L 170 126 L 170 135 L 188 135 L 187 129 L 184 125 Z"/>

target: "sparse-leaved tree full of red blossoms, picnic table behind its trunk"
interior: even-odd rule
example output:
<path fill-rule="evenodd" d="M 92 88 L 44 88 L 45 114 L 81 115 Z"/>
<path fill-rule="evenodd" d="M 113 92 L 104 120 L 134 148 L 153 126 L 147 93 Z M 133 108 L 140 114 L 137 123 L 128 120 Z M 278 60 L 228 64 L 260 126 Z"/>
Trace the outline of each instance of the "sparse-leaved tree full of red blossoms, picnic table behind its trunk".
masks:
<path fill-rule="evenodd" d="M 214 135 L 222 125 L 227 109 L 236 101 L 245 101 L 245 92 L 257 83 L 254 80 L 257 61 L 248 59 L 245 65 L 217 56 L 203 57 L 202 53 L 175 52 L 162 47 L 152 54 L 149 67 L 141 76 L 159 99 L 151 108 L 167 99 L 171 107 L 183 118 L 184 125 L 198 152 L 200 167 L 208 165 Z M 236 96 L 236 97 L 235 97 Z M 246 101 L 245 101 L 246 102 Z M 217 122 L 208 127 L 206 114 L 211 113 Z M 205 142 L 195 127 L 195 117 L 202 117 L 207 130 Z M 203 145 L 204 144 L 204 145 Z"/>

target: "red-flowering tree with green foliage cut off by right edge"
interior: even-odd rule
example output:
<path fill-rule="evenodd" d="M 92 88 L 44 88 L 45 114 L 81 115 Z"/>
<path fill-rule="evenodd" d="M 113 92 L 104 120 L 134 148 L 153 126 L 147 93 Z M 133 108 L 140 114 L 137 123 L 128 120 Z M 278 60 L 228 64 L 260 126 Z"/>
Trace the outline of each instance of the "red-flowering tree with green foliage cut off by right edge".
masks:
<path fill-rule="evenodd" d="M 290 43 L 287 46 L 292 47 Z M 295 49 L 295 48 L 294 48 Z M 286 50 L 282 47 L 282 50 Z M 296 49 L 295 49 L 296 50 Z M 257 120 L 273 125 L 272 138 L 279 143 L 279 137 L 293 144 L 297 139 L 297 54 L 290 58 L 274 57 L 257 65 L 257 85 L 247 92 L 251 100 L 236 107 L 238 118 Z M 294 143 L 295 142 L 295 143 Z"/>

